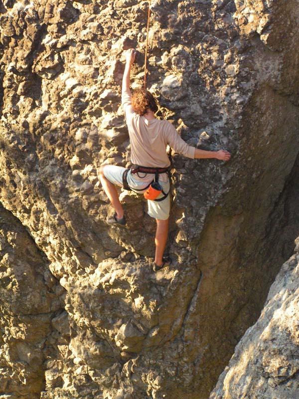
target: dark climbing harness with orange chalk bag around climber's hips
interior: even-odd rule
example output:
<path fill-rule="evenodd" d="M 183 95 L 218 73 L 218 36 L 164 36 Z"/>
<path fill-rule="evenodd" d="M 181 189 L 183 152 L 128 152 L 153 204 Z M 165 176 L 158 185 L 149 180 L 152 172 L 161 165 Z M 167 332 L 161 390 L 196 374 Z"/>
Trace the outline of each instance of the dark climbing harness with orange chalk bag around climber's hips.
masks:
<path fill-rule="evenodd" d="M 134 175 L 137 173 L 137 176 L 140 177 L 141 179 L 145 178 L 145 176 L 139 176 L 139 173 L 145 173 L 145 174 L 153 174 L 154 179 L 148 184 L 148 186 L 144 187 L 143 189 L 133 189 L 133 191 L 145 191 L 144 196 L 147 200 L 153 200 L 153 201 L 162 201 L 165 200 L 165 198 L 169 195 L 168 193 L 165 193 L 162 189 L 162 187 L 159 185 L 159 174 L 161 173 L 167 173 L 168 178 L 170 179 L 170 172 L 169 172 L 169 167 L 167 168 L 153 168 L 153 167 L 148 167 L 148 166 L 139 166 L 139 165 L 133 165 L 130 169 L 126 169 L 124 174 L 123 174 L 123 186 L 125 190 L 132 191 L 131 187 L 128 184 L 128 173 L 131 171 L 131 174 Z M 162 193 L 163 197 L 162 198 L 156 198 L 159 196 L 159 194 Z"/>

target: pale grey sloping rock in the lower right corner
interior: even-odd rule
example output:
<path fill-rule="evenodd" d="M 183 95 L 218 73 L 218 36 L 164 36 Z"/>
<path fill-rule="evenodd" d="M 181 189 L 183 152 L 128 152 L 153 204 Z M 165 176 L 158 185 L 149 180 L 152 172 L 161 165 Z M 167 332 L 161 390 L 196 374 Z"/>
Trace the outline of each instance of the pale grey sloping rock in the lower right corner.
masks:
<path fill-rule="evenodd" d="M 210 399 L 299 397 L 299 254 L 271 286 L 257 323 L 236 347 Z"/>

